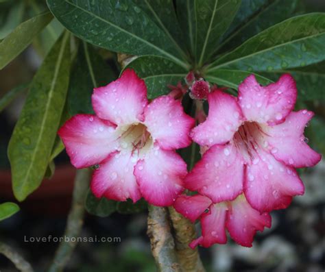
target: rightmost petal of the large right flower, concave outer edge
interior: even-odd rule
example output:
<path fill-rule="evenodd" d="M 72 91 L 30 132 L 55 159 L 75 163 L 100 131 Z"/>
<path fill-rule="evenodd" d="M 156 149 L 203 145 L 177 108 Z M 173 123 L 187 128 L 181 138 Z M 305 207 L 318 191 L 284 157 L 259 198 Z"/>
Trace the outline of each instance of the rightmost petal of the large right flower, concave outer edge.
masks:
<path fill-rule="evenodd" d="M 273 156 L 293 167 L 314 166 L 322 156 L 304 142 L 304 127 L 313 117 L 313 112 L 291 112 L 284 123 L 265 127 L 267 142 Z"/>

